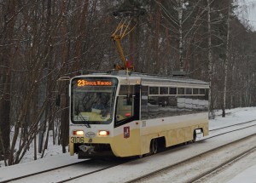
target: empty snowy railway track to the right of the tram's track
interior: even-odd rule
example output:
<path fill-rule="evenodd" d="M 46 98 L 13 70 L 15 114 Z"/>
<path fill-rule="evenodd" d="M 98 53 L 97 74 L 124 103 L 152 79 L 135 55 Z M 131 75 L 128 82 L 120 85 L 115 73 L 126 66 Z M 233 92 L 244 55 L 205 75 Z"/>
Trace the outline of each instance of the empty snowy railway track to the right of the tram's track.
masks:
<path fill-rule="evenodd" d="M 247 140 L 250 140 L 250 144 L 247 144 L 244 149 L 231 153 Z M 216 174 L 216 172 L 226 168 L 230 163 L 234 163 L 237 159 L 255 151 L 256 146 L 251 146 L 255 145 L 255 140 L 256 133 L 127 182 L 165 182 L 166 180 L 183 183 L 206 182 L 207 176 Z"/>

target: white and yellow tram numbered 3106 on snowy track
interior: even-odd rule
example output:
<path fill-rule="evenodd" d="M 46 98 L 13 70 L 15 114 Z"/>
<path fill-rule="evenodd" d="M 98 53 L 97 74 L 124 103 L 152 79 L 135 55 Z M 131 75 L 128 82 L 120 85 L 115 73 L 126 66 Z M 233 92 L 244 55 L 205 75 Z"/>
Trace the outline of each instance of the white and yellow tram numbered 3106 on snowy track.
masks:
<path fill-rule="evenodd" d="M 208 88 L 200 80 L 139 73 L 73 77 L 70 154 L 143 156 L 208 135 Z"/>

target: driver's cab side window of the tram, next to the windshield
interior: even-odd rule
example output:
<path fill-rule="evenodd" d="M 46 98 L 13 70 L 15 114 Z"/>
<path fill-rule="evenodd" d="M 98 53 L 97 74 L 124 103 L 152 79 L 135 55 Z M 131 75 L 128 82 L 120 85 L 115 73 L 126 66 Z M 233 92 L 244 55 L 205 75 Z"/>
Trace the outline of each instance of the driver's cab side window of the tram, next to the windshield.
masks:
<path fill-rule="evenodd" d="M 124 121 L 134 115 L 134 86 L 121 85 L 116 106 L 116 122 Z"/>

